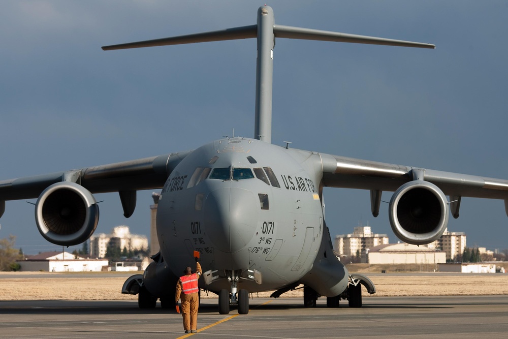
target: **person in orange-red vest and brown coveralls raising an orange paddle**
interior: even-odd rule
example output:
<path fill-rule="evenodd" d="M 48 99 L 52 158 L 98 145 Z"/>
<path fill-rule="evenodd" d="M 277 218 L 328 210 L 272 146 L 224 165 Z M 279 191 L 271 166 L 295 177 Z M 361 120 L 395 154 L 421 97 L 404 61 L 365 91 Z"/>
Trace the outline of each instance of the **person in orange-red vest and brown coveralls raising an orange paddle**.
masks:
<path fill-rule="evenodd" d="M 175 304 L 178 305 L 178 299 L 182 300 L 181 313 L 185 333 L 198 333 L 198 279 L 201 276 L 198 258 L 196 258 L 196 272 L 193 273 L 192 268 L 186 267 L 184 273 L 185 275 L 180 276 L 176 283 Z"/>

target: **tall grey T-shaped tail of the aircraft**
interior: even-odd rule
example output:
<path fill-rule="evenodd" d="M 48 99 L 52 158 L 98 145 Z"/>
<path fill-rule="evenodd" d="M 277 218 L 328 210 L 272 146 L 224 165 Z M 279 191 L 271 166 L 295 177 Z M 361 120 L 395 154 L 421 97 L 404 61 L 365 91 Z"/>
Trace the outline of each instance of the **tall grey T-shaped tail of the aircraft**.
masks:
<path fill-rule="evenodd" d="M 256 63 L 256 118 L 254 126 L 254 138 L 268 143 L 272 142 L 272 80 L 273 48 L 275 47 L 275 38 L 435 48 L 435 45 L 432 44 L 276 25 L 272 8 L 265 5 L 258 9 L 258 19 L 255 25 L 226 28 L 215 30 L 213 32 L 204 32 L 177 37 L 104 46 L 102 49 L 106 51 L 113 49 L 192 44 L 197 42 L 248 38 L 257 38 L 258 41 L 258 58 Z"/>

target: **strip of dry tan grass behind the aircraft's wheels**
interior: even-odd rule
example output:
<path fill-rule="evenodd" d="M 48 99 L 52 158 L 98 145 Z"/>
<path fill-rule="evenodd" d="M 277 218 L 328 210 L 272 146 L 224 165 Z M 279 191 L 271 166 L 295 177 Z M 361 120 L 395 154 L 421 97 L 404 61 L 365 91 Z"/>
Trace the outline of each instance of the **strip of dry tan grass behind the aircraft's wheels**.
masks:
<path fill-rule="evenodd" d="M 367 274 L 376 285 L 374 296 L 508 295 L 508 273 Z M 125 276 L 107 272 L 0 272 L 0 300 L 136 300 L 135 295 L 120 293 L 124 281 Z M 269 295 L 270 292 L 255 293 L 253 297 Z M 281 297 L 294 296 L 303 297 L 303 290 L 290 291 Z M 209 297 L 216 296 L 210 293 Z"/>

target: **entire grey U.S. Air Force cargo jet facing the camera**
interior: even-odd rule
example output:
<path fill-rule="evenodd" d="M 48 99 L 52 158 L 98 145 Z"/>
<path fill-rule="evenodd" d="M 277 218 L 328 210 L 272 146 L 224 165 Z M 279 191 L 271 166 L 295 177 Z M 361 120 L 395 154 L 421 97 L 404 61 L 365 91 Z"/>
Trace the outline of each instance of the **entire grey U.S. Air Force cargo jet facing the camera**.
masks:
<path fill-rule="evenodd" d="M 320 296 L 337 307 L 347 299 L 362 304 L 361 286 L 374 284 L 350 274 L 333 252 L 324 218 L 324 187 L 369 190 L 378 215 L 383 191 L 394 192 L 389 220 L 394 233 L 412 244 L 439 238 L 448 215 L 457 218 L 462 197 L 503 199 L 508 180 L 340 157 L 271 144 L 273 50 L 276 38 L 405 47 L 434 45 L 325 32 L 274 23 L 268 6 L 255 25 L 103 47 L 105 50 L 257 38 L 256 118 L 253 138 L 228 137 L 195 150 L 0 181 L 0 215 L 5 201 L 38 198 L 39 231 L 59 245 L 79 244 L 98 225 L 93 194 L 118 192 L 125 217 L 138 190 L 162 189 L 157 210 L 160 253 L 124 293 L 138 294 L 140 307 L 173 307 L 181 270 L 201 252 L 202 290 L 218 294 L 219 313 L 230 306 L 248 313 L 249 293 L 284 292 L 304 286 L 304 304 Z M 375 47 L 372 47 L 375 48 Z M 447 198 L 447 196 L 449 198 Z"/>

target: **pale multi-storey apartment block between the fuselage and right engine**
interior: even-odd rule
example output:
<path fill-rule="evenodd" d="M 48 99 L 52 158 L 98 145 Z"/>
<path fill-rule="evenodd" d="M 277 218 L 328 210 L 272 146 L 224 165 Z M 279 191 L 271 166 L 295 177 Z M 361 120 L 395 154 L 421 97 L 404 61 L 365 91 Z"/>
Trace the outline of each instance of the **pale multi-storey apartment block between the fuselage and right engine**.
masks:
<path fill-rule="evenodd" d="M 335 236 L 335 249 L 338 253 L 354 257 L 359 253 L 365 257 L 367 249 L 388 243 L 388 235 L 374 234 L 369 226 L 355 227 L 352 234 Z"/>

